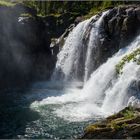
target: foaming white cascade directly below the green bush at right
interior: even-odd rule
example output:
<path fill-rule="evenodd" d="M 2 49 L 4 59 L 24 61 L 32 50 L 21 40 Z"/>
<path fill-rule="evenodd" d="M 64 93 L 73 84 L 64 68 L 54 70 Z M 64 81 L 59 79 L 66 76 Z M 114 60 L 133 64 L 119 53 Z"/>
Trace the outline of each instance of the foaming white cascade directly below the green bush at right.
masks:
<path fill-rule="evenodd" d="M 127 106 L 130 97 L 135 94 L 134 91 L 130 89 L 130 86 L 133 81 L 137 81 L 139 70 L 140 66 L 133 62 L 130 62 L 124 67 L 123 74 L 113 83 L 112 87 L 105 92 L 105 99 L 102 105 L 104 111 L 113 114 Z M 138 95 L 138 93 L 136 95 Z"/>

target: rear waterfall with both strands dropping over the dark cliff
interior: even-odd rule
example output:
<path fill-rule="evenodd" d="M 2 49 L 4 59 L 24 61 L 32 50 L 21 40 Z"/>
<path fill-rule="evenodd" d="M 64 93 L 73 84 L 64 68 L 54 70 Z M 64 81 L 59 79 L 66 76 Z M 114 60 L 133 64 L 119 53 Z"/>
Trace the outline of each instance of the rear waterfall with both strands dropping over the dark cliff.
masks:
<path fill-rule="evenodd" d="M 99 19 L 99 15 L 96 15 L 79 23 L 69 34 L 58 54 L 53 80 L 87 80 L 89 78 L 94 67 L 92 55 L 98 46 L 99 31 L 106 13 L 103 12 Z"/>

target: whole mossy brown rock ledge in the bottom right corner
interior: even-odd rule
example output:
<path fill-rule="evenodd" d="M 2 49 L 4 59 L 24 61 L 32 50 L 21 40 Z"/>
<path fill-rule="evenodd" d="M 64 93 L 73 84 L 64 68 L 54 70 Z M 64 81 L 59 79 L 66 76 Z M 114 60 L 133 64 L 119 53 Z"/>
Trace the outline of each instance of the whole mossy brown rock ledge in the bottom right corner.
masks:
<path fill-rule="evenodd" d="M 139 139 L 140 108 L 126 107 L 106 120 L 91 124 L 85 129 L 82 139 Z"/>

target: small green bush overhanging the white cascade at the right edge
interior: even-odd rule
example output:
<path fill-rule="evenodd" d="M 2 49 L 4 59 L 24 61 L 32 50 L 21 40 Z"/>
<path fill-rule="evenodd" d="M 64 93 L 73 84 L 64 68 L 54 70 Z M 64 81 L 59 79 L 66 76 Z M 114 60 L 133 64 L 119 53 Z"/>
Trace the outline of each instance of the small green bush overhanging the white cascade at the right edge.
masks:
<path fill-rule="evenodd" d="M 130 53 L 122 58 L 122 60 L 116 65 L 117 73 L 121 74 L 124 65 L 129 62 L 135 62 L 138 65 L 140 65 L 140 48 L 134 50 L 132 53 Z"/>

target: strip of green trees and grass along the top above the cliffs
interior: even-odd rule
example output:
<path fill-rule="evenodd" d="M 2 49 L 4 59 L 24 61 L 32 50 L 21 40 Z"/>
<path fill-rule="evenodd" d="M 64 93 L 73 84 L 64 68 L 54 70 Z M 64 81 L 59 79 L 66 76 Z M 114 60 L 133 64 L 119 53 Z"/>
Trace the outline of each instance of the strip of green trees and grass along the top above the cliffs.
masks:
<path fill-rule="evenodd" d="M 0 5 L 13 6 L 16 3 L 23 3 L 24 5 L 34 8 L 40 16 L 50 14 L 59 15 L 66 12 L 78 13 L 85 16 L 85 18 L 93 16 L 100 10 L 107 7 L 118 6 L 129 3 L 128 1 L 42 1 L 42 0 L 0 0 Z"/>

